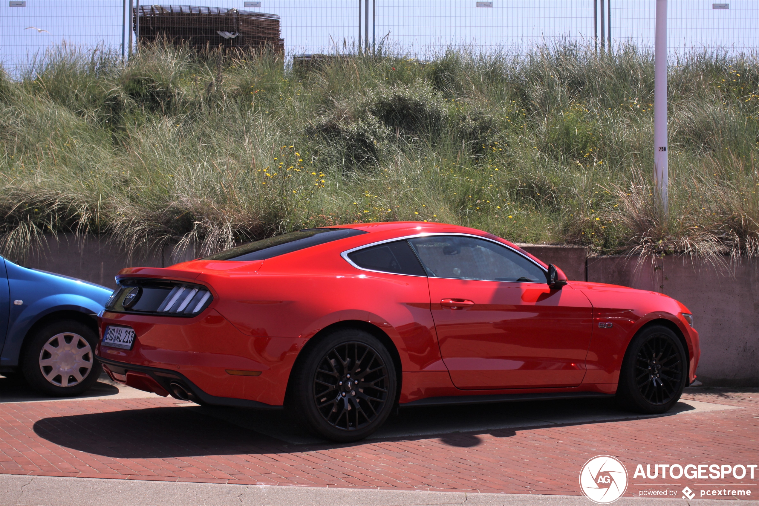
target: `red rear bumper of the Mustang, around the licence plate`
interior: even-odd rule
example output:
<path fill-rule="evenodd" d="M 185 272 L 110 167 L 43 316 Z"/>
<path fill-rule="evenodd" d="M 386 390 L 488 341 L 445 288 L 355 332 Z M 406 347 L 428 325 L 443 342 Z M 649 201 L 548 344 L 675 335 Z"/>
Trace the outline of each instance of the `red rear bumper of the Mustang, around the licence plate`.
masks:
<path fill-rule="evenodd" d="M 102 344 L 109 325 L 134 329 L 131 350 Z M 104 363 L 110 361 L 132 371 L 168 369 L 168 373 L 182 376 L 212 398 L 279 406 L 285 404 L 291 367 L 307 338 L 272 337 L 265 329 L 257 330 L 261 331 L 257 335 L 244 334 L 213 308 L 193 318 L 104 311 L 100 317 L 101 342 L 95 354 Z M 250 376 L 229 371 L 249 372 Z M 259 405 L 232 401 L 209 404 Z"/>

